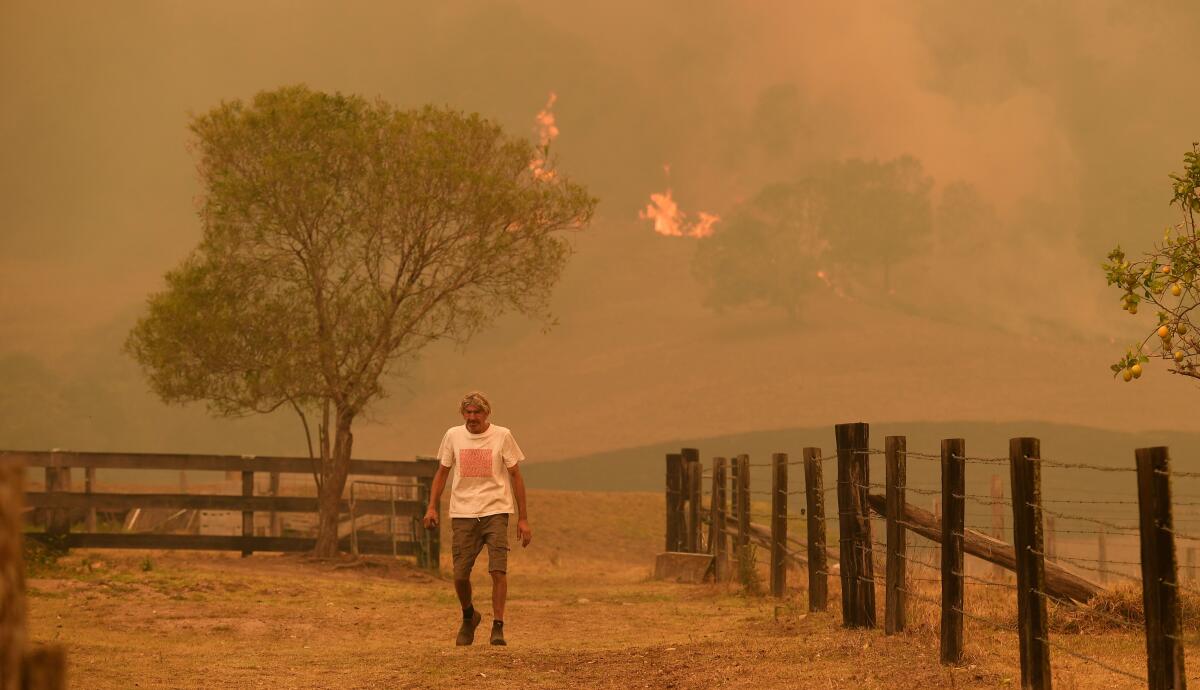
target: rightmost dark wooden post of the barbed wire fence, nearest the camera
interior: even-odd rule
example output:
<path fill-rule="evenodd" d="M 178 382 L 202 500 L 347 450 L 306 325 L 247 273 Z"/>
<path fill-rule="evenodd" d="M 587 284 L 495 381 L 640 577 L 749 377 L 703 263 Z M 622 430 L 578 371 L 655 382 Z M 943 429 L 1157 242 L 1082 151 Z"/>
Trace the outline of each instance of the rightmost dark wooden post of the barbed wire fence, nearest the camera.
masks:
<path fill-rule="evenodd" d="M 1146 611 L 1146 671 L 1150 690 L 1182 690 L 1183 624 L 1171 517 L 1170 458 L 1165 446 L 1139 448 L 1138 527 Z"/>

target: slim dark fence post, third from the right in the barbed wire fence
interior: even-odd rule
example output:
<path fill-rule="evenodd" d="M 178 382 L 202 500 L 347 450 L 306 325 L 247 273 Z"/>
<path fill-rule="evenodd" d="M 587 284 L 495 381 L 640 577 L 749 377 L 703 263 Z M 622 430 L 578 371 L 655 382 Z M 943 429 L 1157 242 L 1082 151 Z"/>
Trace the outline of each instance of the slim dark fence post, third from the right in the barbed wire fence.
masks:
<path fill-rule="evenodd" d="M 942 439 L 942 664 L 962 662 L 966 442 Z"/>

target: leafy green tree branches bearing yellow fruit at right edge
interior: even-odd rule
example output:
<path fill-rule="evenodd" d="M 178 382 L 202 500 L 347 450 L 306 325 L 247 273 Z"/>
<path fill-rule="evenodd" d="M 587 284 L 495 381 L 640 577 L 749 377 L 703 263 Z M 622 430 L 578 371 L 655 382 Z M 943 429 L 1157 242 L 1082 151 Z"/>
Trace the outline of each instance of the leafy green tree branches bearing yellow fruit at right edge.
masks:
<path fill-rule="evenodd" d="M 1171 204 L 1178 205 L 1181 222 L 1168 227 L 1163 241 L 1130 262 L 1117 246 L 1109 252 L 1104 274 L 1110 286 L 1121 292 L 1121 308 L 1138 313 L 1144 300 L 1158 307 L 1157 325 L 1140 344 L 1129 347 L 1112 365 L 1114 376 L 1124 380 L 1140 378 L 1141 365 L 1150 356 L 1164 359 L 1171 373 L 1200 378 L 1200 337 L 1196 336 L 1195 310 L 1200 305 L 1200 144 L 1183 155 L 1183 172 L 1171 174 Z M 1154 342 L 1153 346 L 1150 343 Z"/>

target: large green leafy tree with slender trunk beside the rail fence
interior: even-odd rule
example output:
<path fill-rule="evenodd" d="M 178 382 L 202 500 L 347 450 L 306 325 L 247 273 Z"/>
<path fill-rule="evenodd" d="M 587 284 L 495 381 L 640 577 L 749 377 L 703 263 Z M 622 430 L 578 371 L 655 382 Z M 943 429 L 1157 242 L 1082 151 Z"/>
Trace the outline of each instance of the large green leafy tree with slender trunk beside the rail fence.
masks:
<path fill-rule="evenodd" d="M 295 410 L 319 460 L 316 553 L 334 556 L 354 421 L 386 376 L 505 311 L 548 316 L 563 232 L 596 200 L 534 174 L 532 143 L 449 109 L 288 86 L 191 132 L 203 239 L 126 348 L 164 401 Z"/>

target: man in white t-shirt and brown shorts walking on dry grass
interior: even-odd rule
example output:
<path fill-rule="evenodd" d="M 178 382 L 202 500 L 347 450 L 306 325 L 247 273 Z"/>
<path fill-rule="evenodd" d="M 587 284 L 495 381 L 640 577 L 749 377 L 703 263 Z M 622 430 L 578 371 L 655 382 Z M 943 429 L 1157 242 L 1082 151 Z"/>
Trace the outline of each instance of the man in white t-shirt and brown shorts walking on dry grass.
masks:
<path fill-rule="evenodd" d="M 521 546 L 529 546 L 529 514 L 526 510 L 524 479 L 520 462 L 524 460 L 512 432 L 490 424 L 492 406 L 487 397 L 472 391 L 458 404 L 463 425 L 450 427 L 438 450 L 440 466 L 433 475 L 430 508 L 425 527 L 438 523 L 438 505 L 446 476 L 450 484 L 450 527 L 452 532 L 454 589 L 462 605 L 462 626 L 457 644 L 475 641 L 475 628 L 484 617 L 472 604 L 470 569 L 475 557 L 487 546 L 487 571 L 492 574 L 492 644 L 504 642 L 504 600 L 508 595 L 509 515 L 517 514 Z M 516 505 L 512 497 L 516 494 Z"/>

